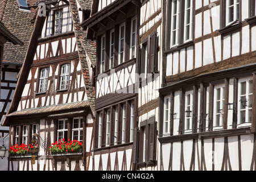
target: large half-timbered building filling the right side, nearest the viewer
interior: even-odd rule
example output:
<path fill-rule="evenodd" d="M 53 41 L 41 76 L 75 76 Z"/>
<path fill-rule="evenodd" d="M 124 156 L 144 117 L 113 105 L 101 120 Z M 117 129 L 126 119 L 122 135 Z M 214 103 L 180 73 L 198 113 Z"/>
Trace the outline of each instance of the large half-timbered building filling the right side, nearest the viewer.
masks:
<path fill-rule="evenodd" d="M 160 170 L 255 169 L 255 1 L 163 1 Z"/>

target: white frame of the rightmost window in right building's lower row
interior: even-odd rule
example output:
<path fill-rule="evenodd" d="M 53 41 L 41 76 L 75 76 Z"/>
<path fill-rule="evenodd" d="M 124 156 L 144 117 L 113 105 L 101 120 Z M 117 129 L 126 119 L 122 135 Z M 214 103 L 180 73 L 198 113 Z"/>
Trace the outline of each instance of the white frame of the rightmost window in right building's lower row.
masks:
<path fill-rule="evenodd" d="M 245 94 L 241 94 L 241 83 L 245 82 L 246 83 L 246 93 Z M 243 126 L 250 126 L 251 125 L 251 121 L 250 121 L 250 117 L 249 117 L 249 113 L 251 113 L 252 111 L 252 97 L 253 97 L 253 92 L 249 93 L 249 84 L 251 82 L 251 88 L 253 86 L 253 77 L 247 77 L 247 78 L 241 78 L 238 80 L 238 114 L 237 114 L 237 124 L 238 127 L 243 127 Z M 245 108 L 242 108 L 242 103 L 240 100 L 243 100 L 243 98 L 241 97 L 245 97 L 247 100 L 247 106 Z M 251 97 L 251 98 L 250 98 Z M 245 111 L 245 122 L 241 121 L 241 112 Z M 252 116 L 252 115 L 251 115 Z"/>

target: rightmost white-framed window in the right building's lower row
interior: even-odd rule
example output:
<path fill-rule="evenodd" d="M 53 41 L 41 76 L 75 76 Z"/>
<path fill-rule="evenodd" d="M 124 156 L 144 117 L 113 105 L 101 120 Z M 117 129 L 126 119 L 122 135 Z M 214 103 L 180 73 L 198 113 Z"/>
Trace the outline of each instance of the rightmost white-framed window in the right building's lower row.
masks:
<path fill-rule="evenodd" d="M 251 122 L 253 98 L 252 78 L 243 78 L 238 81 L 238 125 Z"/>

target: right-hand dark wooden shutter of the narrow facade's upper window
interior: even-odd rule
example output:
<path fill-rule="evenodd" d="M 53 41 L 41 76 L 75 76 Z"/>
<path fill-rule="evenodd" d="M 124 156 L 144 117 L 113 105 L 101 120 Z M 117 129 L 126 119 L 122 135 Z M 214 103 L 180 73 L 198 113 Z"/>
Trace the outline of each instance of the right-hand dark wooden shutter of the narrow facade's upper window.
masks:
<path fill-rule="evenodd" d="M 155 72 L 155 61 L 156 61 L 156 31 L 150 35 L 150 55 L 149 55 L 149 71 L 150 73 Z"/>

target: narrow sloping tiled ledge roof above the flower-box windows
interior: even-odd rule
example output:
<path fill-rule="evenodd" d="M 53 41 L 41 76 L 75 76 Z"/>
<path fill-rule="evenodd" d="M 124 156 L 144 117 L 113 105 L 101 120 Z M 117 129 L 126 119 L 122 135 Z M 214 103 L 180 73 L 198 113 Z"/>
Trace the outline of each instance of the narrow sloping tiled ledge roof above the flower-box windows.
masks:
<path fill-rule="evenodd" d="M 7 114 L 6 117 L 18 117 L 23 115 L 36 115 L 36 114 L 52 114 L 57 111 L 61 111 L 61 113 L 63 114 L 63 111 L 69 111 L 73 109 L 84 109 L 85 107 L 89 107 L 88 101 L 72 102 L 68 104 L 59 104 L 59 105 L 46 106 L 46 107 L 38 107 L 35 109 L 24 109 L 24 110 L 15 111 L 13 113 Z"/>

